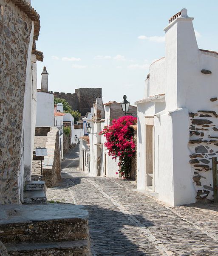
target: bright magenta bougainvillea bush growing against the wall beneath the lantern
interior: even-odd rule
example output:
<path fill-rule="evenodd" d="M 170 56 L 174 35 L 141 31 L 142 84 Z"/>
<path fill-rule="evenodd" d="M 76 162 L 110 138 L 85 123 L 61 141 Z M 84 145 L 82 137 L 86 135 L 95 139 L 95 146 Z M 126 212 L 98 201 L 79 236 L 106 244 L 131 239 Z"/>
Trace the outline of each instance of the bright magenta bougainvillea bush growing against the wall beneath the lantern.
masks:
<path fill-rule="evenodd" d="M 125 177 L 129 177 L 131 157 L 136 151 L 133 129 L 130 128 L 130 125 L 135 125 L 136 122 L 136 117 L 122 116 L 114 119 L 112 125 L 107 126 L 100 133 L 106 138 L 105 147 L 108 149 L 108 154 L 113 159 L 119 159 L 119 172 Z"/>

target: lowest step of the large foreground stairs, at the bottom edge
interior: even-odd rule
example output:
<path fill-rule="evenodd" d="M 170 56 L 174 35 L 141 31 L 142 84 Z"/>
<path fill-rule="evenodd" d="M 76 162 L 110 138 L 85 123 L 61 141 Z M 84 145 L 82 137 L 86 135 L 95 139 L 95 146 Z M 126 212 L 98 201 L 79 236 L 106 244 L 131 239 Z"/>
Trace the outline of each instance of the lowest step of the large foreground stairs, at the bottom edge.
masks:
<path fill-rule="evenodd" d="M 6 244 L 9 256 L 90 256 L 86 240 L 40 244 Z"/>

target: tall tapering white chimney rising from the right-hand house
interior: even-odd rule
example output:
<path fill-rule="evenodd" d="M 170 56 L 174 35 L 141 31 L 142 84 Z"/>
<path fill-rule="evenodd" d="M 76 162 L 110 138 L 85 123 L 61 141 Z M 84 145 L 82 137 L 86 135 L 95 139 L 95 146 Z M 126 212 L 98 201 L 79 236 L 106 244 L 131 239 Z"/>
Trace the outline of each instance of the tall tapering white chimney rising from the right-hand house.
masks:
<path fill-rule="evenodd" d="M 170 18 L 164 31 L 166 63 L 166 105 L 167 110 L 186 106 L 186 94 L 193 72 L 198 69 L 199 49 L 193 28 L 194 18 L 188 17 L 182 9 Z"/>

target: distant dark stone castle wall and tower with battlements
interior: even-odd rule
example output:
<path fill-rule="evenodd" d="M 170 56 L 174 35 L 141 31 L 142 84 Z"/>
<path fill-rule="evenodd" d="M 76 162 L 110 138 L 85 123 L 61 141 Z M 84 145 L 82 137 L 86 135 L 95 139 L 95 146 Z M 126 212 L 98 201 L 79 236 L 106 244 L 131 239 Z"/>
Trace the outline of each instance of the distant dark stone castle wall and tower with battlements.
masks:
<path fill-rule="evenodd" d="M 102 88 L 79 88 L 75 89 L 75 93 L 54 92 L 54 97 L 65 99 L 73 110 L 85 116 L 87 112 L 90 112 L 96 98 L 102 97 Z"/>

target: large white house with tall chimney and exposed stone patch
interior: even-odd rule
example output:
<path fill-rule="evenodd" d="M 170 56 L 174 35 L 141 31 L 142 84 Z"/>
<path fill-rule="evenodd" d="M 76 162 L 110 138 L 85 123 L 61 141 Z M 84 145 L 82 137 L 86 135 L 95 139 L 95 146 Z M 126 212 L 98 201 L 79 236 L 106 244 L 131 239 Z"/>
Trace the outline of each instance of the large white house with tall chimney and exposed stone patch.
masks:
<path fill-rule="evenodd" d="M 165 27 L 165 57 L 153 62 L 138 107 L 137 188 L 172 206 L 213 198 L 218 153 L 218 53 L 198 49 L 182 9 Z"/>

